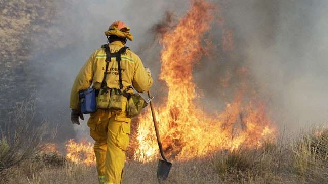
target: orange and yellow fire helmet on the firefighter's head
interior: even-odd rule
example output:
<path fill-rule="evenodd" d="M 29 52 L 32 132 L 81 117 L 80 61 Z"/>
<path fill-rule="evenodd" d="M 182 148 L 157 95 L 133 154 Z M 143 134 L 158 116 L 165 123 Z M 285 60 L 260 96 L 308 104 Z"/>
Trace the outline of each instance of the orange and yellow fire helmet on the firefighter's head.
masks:
<path fill-rule="evenodd" d="M 106 36 L 116 35 L 121 38 L 128 38 L 130 41 L 133 40 L 132 34 L 129 32 L 130 28 L 122 21 L 115 21 L 110 25 L 108 31 L 105 31 Z"/>

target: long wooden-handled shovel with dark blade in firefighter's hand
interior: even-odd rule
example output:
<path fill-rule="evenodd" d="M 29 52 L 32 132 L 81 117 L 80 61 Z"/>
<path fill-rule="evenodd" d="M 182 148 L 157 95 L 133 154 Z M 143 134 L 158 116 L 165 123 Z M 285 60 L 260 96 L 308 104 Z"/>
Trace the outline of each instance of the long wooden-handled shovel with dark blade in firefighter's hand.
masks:
<path fill-rule="evenodd" d="M 148 97 L 151 98 L 150 91 L 148 91 Z M 165 180 L 168 177 L 172 163 L 168 162 L 168 160 L 166 159 L 166 157 L 164 155 L 162 142 L 160 140 L 159 130 L 158 130 L 158 126 L 157 126 L 155 110 L 154 110 L 152 101 L 150 101 L 150 108 L 152 110 L 152 116 L 153 116 L 153 120 L 154 120 L 154 126 L 155 126 L 155 131 L 156 131 L 157 143 L 158 143 L 159 150 L 160 150 L 160 155 L 164 159 L 164 160 L 159 160 L 158 168 L 157 168 L 157 179 L 160 182 L 161 180 Z"/>

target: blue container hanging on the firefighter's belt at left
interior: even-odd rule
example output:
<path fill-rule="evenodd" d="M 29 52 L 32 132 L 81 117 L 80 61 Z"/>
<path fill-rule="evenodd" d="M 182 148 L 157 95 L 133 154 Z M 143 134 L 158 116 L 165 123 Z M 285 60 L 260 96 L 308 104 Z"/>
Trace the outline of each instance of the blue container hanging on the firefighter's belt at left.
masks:
<path fill-rule="evenodd" d="M 96 91 L 93 88 L 81 90 L 79 92 L 81 112 L 83 114 L 94 113 L 96 111 Z"/>

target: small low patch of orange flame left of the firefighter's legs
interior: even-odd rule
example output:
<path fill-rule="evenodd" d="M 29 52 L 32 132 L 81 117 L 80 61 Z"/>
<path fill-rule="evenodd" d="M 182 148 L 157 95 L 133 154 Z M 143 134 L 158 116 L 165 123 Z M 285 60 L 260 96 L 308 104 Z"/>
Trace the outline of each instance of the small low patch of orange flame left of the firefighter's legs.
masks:
<path fill-rule="evenodd" d="M 96 157 L 93 151 L 93 144 L 85 140 L 78 143 L 74 139 L 70 139 L 67 147 L 66 158 L 75 164 L 84 163 L 87 166 L 96 164 Z"/>

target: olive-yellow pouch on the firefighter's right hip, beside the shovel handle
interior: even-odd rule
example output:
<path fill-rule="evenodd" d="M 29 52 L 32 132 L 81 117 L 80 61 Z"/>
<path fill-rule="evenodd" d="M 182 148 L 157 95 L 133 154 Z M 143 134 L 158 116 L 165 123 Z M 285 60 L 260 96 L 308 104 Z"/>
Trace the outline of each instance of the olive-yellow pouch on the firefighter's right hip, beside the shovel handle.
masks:
<path fill-rule="evenodd" d="M 129 118 L 133 118 L 137 116 L 142 109 L 147 107 L 148 103 L 139 95 L 139 94 L 132 94 L 130 99 L 127 102 L 127 116 Z"/>

